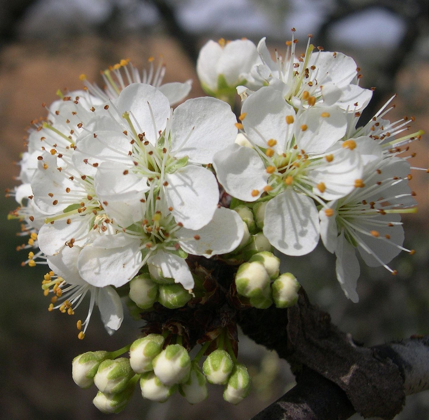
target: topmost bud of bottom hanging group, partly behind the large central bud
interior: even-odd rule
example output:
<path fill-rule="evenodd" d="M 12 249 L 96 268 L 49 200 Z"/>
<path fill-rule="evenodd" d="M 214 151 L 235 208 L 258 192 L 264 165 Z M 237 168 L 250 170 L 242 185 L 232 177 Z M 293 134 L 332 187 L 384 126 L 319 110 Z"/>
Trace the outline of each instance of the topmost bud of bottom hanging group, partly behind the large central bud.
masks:
<path fill-rule="evenodd" d="M 130 366 L 136 373 L 149 372 L 153 369 L 152 360 L 161 353 L 164 337 L 149 334 L 134 341 L 130 347 Z"/>

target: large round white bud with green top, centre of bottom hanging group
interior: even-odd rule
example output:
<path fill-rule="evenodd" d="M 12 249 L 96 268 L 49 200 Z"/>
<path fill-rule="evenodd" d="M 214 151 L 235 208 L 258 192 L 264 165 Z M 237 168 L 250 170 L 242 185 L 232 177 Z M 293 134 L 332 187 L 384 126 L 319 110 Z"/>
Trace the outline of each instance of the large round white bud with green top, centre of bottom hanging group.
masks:
<path fill-rule="evenodd" d="M 180 344 L 170 344 L 152 362 L 155 375 L 167 386 L 186 382 L 190 372 L 190 357 Z"/>

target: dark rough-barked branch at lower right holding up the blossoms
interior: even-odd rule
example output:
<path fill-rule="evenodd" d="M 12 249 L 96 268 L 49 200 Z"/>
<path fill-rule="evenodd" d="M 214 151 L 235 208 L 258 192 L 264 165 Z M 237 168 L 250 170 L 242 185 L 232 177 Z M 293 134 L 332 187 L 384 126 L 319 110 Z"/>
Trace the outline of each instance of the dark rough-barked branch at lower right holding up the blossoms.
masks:
<path fill-rule="evenodd" d="M 245 334 L 276 350 L 298 372 L 297 386 L 255 419 L 345 419 L 354 411 L 392 419 L 405 395 L 429 387 L 429 337 L 357 346 L 329 314 L 311 305 L 303 290 L 297 305 L 247 309 L 239 323 Z"/>

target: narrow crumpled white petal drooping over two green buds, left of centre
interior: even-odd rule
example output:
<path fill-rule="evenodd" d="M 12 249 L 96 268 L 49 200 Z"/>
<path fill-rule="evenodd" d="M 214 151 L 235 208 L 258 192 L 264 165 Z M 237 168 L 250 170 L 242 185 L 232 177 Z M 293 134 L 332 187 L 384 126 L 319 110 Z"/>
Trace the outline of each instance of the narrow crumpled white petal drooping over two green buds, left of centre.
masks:
<path fill-rule="evenodd" d="M 163 277 L 174 278 L 175 283 L 180 283 L 186 290 L 194 286 L 194 281 L 186 261 L 175 254 L 157 251 L 148 258 L 148 264 L 153 264 L 161 269 Z"/>

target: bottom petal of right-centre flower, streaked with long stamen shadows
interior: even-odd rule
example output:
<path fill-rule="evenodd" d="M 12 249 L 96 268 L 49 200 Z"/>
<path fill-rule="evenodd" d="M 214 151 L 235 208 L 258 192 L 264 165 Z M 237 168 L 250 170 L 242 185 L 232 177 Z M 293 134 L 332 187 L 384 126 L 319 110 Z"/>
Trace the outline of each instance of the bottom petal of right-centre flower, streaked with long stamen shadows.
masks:
<path fill-rule="evenodd" d="M 319 241 L 319 217 L 313 200 L 287 188 L 266 205 L 263 233 L 283 254 L 313 251 Z"/>

